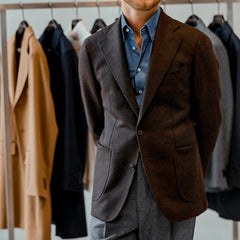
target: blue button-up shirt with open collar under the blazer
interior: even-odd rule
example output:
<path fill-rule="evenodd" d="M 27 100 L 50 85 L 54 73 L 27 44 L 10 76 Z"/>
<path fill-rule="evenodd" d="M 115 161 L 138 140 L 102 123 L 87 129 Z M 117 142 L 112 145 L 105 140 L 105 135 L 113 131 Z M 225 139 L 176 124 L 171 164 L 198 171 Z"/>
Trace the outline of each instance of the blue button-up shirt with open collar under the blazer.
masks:
<path fill-rule="evenodd" d="M 160 13 L 161 10 L 159 8 L 140 30 L 140 34 L 143 39 L 141 54 L 138 51 L 133 30 L 130 26 L 128 26 L 123 13 L 121 16 L 122 36 L 127 57 L 128 70 L 135 90 L 139 109 L 142 103 L 153 40 Z"/>

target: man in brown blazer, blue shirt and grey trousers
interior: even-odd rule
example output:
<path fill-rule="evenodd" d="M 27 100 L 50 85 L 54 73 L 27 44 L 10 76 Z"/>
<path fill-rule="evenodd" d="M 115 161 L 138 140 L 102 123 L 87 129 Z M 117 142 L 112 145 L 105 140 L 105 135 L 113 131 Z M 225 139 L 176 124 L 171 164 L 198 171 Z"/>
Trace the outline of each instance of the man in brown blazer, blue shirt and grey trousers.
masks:
<path fill-rule="evenodd" d="M 160 0 L 123 0 L 88 38 L 80 81 L 97 144 L 91 239 L 190 240 L 220 122 L 210 40 Z"/>

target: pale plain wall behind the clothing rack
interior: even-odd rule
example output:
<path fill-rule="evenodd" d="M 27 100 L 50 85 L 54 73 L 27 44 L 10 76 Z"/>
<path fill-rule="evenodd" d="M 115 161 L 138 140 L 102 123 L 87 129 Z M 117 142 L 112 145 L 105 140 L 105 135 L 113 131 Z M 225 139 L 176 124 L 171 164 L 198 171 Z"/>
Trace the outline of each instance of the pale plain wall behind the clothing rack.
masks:
<path fill-rule="evenodd" d="M 64 0 L 57 0 L 58 2 Z M 67 0 L 66 0 L 67 1 Z M 0 0 L 0 3 L 18 3 L 17 0 Z M 27 2 L 48 2 L 47 0 L 25 0 Z M 54 2 L 54 1 L 52 1 Z M 71 1 L 69 1 L 71 2 Z M 73 1 L 72 1 L 73 2 Z M 221 13 L 226 19 L 226 4 L 221 4 Z M 233 28 L 235 33 L 240 37 L 240 3 L 234 4 L 234 23 Z M 179 21 L 186 21 L 191 15 L 191 6 L 189 5 L 168 5 L 167 13 L 178 19 Z M 213 15 L 217 13 L 217 4 L 194 4 L 194 13 L 203 19 L 205 24 L 209 24 L 212 21 Z M 107 24 L 112 23 L 119 15 L 118 7 L 105 7 L 101 8 L 101 17 Z M 76 18 L 75 9 L 54 9 L 54 17 L 58 23 L 60 23 L 64 30 L 68 28 L 69 22 Z M 94 21 L 98 18 L 97 8 L 81 8 L 79 9 L 79 17 L 82 18 L 89 29 L 91 29 Z M 51 19 L 51 12 L 48 9 L 45 10 L 25 10 L 25 19 L 30 25 L 32 25 L 36 36 L 39 37 L 47 26 Z M 22 20 L 21 10 L 11 10 L 7 13 L 7 33 L 8 38 L 14 34 L 18 28 L 20 21 Z M 91 205 L 91 194 L 85 193 L 86 202 L 86 213 L 87 220 L 89 223 L 90 218 L 90 205 Z M 239 206 L 240 207 L 240 206 Z M 54 227 L 52 229 L 52 240 L 59 240 L 60 238 L 55 237 Z M 0 240 L 7 240 L 7 231 L 0 230 Z M 24 240 L 24 232 L 16 229 L 15 231 L 16 240 Z M 88 240 L 89 238 L 81 238 Z M 207 210 L 197 219 L 196 231 L 194 240 L 232 240 L 232 221 L 224 220 L 218 217 L 218 215 Z M 151 240 L 151 239 L 149 239 Z M 184 239 L 179 239 L 184 240 Z"/>

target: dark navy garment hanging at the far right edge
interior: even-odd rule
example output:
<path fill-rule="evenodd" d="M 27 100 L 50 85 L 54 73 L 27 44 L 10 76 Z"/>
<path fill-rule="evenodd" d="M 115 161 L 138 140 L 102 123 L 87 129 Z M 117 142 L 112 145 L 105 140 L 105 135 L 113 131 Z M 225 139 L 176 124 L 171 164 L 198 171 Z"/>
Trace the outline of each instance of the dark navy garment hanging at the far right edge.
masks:
<path fill-rule="evenodd" d="M 229 187 L 240 188 L 240 39 L 227 22 L 222 25 L 212 23 L 209 28 L 222 40 L 230 60 L 235 109 L 226 176 Z"/>

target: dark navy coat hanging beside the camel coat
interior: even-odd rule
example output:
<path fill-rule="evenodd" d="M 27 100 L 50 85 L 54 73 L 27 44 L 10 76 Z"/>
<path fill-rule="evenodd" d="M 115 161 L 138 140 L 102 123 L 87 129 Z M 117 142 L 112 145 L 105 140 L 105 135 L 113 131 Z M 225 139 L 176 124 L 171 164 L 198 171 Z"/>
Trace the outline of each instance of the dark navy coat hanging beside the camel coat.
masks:
<path fill-rule="evenodd" d="M 43 32 L 59 135 L 51 182 L 53 223 L 62 238 L 87 235 L 82 178 L 87 123 L 78 78 L 78 59 L 60 25 Z"/>

